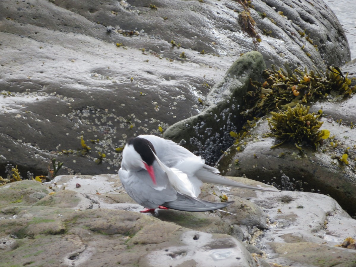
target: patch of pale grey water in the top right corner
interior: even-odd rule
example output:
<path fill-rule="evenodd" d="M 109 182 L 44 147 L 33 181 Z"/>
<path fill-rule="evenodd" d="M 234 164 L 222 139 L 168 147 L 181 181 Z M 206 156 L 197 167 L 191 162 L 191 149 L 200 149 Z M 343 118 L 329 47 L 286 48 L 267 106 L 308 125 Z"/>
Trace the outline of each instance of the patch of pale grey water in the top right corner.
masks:
<path fill-rule="evenodd" d="M 344 28 L 350 45 L 351 59 L 354 59 L 356 57 L 356 12 L 353 9 L 355 0 L 324 0 L 324 2 L 333 10 Z"/>

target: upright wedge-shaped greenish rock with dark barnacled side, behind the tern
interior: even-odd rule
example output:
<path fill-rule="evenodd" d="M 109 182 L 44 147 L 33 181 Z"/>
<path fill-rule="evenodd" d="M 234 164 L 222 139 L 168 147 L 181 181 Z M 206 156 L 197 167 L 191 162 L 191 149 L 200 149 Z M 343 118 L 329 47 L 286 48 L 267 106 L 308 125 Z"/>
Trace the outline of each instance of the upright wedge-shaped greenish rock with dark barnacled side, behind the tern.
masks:
<path fill-rule="evenodd" d="M 225 77 L 215 84 L 206 98 L 207 108 L 198 115 L 177 122 L 164 132 L 164 138 L 181 143 L 190 151 L 213 164 L 234 138 L 230 131 L 241 128 L 240 105 L 248 91 L 250 79 L 260 79 L 266 69 L 258 52 L 248 52 L 237 59 Z"/>

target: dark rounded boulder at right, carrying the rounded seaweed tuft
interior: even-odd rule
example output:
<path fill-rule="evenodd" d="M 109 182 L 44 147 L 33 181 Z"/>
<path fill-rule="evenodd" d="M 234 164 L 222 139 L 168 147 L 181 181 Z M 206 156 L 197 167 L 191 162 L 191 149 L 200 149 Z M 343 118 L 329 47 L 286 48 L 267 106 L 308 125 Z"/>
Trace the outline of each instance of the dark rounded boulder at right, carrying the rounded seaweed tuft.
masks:
<path fill-rule="evenodd" d="M 223 155 L 219 169 L 229 176 L 246 175 L 248 178 L 278 185 L 284 190 L 304 190 L 329 194 L 343 209 L 354 216 L 356 201 L 354 144 L 356 130 L 351 124 L 356 121 L 353 114 L 345 112 L 355 105 L 354 98 L 340 102 L 321 101 L 310 108 L 310 112 L 323 110 L 323 125 L 320 129 L 330 131 L 331 138 L 315 150 L 303 146 L 300 152 L 293 143 L 283 143 L 271 149 L 278 140 L 266 136 L 268 116 L 262 117 L 249 132 L 249 136 L 232 146 L 229 155 Z M 339 123 L 337 121 L 342 123 Z M 337 143 L 333 146 L 330 142 Z M 237 147 L 240 147 L 237 151 Z M 348 154 L 348 164 L 339 159 Z"/>

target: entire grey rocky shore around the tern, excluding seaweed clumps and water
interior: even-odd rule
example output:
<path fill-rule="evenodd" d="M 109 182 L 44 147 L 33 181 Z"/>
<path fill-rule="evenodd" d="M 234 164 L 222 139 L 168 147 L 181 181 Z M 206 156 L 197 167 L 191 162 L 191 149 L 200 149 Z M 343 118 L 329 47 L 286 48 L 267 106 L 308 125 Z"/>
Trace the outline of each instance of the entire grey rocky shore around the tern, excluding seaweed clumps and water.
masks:
<path fill-rule="evenodd" d="M 4 0 L 0 9 L 0 175 L 17 166 L 24 179 L 0 186 L 1 264 L 356 265 L 353 94 L 308 102 L 330 131 L 317 149 L 272 149 L 270 114 L 237 134 L 243 97 L 265 69 L 333 66 L 355 77 L 323 1 Z M 281 191 L 204 185 L 201 198 L 235 201 L 229 213 L 141 214 L 117 171 L 126 139 L 143 133 Z M 59 176 L 33 180 L 49 180 L 53 158 Z"/>

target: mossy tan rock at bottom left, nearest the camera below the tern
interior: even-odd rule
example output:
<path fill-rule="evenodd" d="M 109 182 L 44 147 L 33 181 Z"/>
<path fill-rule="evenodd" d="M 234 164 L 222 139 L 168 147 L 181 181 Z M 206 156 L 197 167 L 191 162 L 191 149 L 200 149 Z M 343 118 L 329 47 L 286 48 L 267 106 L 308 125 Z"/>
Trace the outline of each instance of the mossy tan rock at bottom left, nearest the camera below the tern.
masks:
<path fill-rule="evenodd" d="M 0 193 L 6 190 L 9 188 L 1 187 Z M 23 207 L 16 216 L 2 210 L 2 262 L 46 265 L 51 259 L 56 266 L 79 266 L 89 261 L 90 266 L 167 266 L 167 262 L 174 266 L 187 266 L 187 262 L 257 266 L 244 245 L 226 234 L 193 231 L 158 219 L 163 216 L 155 218 L 126 210 L 62 208 L 66 200 L 68 206 L 78 203 L 73 203 L 75 194 L 80 193 L 59 190 L 48 197 L 61 195 L 61 201 L 48 201 L 46 197 L 34 206 Z M 63 198 L 64 195 L 69 197 Z"/>

